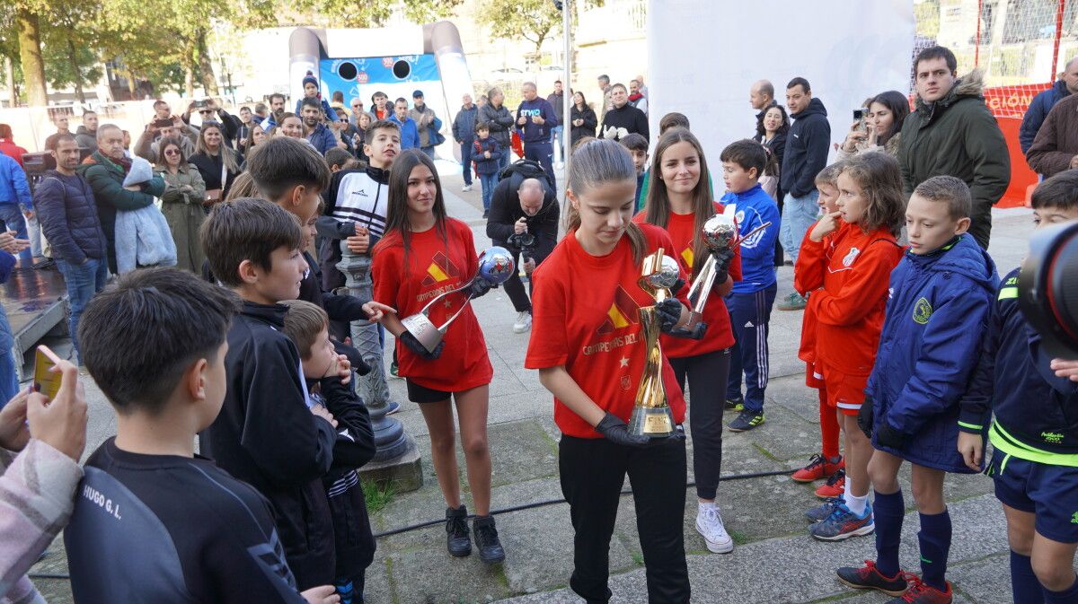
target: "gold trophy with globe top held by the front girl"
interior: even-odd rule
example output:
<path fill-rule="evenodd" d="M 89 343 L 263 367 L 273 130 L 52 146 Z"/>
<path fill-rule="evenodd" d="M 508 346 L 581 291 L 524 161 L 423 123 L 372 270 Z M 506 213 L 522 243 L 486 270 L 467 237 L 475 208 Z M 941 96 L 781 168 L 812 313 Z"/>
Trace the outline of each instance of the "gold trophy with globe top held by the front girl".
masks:
<path fill-rule="evenodd" d="M 663 254 L 663 249 L 644 258 L 638 281 L 655 304 L 671 296 L 680 270 L 677 261 Z M 666 404 L 663 388 L 663 351 L 659 345 L 660 321 L 654 305 L 640 309 L 644 333 L 645 365 L 640 385 L 636 389 L 636 405 L 628 421 L 630 434 L 663 438 L 674 434 L 674 415 Z"/>

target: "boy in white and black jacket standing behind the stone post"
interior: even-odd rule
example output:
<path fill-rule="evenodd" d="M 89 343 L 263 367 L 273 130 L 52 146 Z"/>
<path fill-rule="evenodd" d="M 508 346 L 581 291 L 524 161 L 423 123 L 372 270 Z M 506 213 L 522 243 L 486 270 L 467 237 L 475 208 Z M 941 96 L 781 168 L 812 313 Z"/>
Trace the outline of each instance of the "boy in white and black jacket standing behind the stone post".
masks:
<path fill-rule="evenodd" d="M 389 167 L 401 151 L 401 128 L 396 122 L 378 120 L 368 128 L 363 152 L 370 164 L 362 170 L 341 170 L 322 191 L 326 203 L 318 219 L 322 238 L 318 259 L 322 269 L 322 289 L 327 292 L 344 285 L 341 240 L 348 241 L 355 254 L 370 254 L 386 229 L 389 201 Z M 255 148 L 257 149 L 257 148 Z"/>

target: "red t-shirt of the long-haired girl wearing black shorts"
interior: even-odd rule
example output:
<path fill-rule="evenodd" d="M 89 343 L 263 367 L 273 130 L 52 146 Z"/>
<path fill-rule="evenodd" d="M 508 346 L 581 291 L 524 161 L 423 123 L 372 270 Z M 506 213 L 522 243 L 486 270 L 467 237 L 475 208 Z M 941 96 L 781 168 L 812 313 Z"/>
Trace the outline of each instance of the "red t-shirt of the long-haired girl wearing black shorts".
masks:
<path fill-rule="evenodd" d="M 444 241 L 434 227 L 413 233 L 410 247 L 405 254 L 400 233 L 387 233 L 375 245 L 371 264 L 374 299 L 396 308 L 401 319 L 419 312 L 439 294 L 464 285 L 478 268 L 471 228 L 456 219 L 445 220 Z M 465 292 L 458 292 L 436 303 L 429 311 L 434 325 L 453 317 L 465 296 Z M 406 346 L 398 346 L 397 367 L 401 377 L 445 392 L 490 383 L 494 377 L 483 331 L 471 305 L 450 324 L 441 356 L 428 361 Z"/>

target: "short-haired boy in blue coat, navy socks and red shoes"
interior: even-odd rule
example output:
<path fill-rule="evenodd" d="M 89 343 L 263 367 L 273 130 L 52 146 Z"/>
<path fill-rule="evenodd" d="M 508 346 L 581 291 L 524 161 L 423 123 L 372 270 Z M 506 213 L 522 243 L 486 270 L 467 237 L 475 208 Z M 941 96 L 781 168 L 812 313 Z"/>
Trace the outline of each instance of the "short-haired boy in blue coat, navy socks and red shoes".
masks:
<path fill-rule="evenodd" d="M 977 366 L 998 278 L 992 257 L 966 233 L 971 211 L 969 187 L 954 177 L 932 177 L 913 191 L 906 208 L 910 247 L 890 273 L 875 365 L 858 416 L 875 449 L 868 472 L 875 489 L 876 560 L 839 568 L 839 580 L 895 595 L 893 604 L 952 601 L 944 577 L 951 549 L 944 473 L 980 470 L 966 467 L 955 448 L 958 402 Z M 912 466 L 921 516 L 920 579 L 898 565 L 903 461 Z"/>

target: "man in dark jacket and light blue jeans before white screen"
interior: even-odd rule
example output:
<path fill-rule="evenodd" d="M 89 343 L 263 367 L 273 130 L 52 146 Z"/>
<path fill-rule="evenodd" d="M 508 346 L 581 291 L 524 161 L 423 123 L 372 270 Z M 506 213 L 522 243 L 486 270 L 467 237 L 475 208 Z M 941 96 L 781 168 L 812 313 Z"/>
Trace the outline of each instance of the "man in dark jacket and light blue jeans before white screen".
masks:
<path fill-rule="evenodd" d="M 797 263 L 801 240 L 819 213 L 815 179 L 827 166 L 831 125 L 827 122 L 827 109 L 819 99 L 813 98 L 812 87 L 804 78 L 794 78 L 786 85 L 786 107 L 790 110 L 793 125 L 786 135 L 786 152 L 783 154 L 780 187 L 786 196 L 778 239 L 790 259 Z M 805 299 L 797 292 L 790 292 L 777 306 L 778 310 L 801 310 L 805 307 Z"/>

